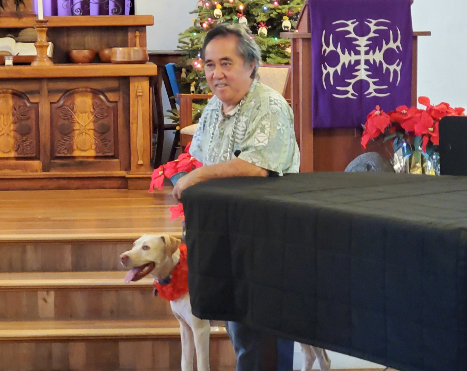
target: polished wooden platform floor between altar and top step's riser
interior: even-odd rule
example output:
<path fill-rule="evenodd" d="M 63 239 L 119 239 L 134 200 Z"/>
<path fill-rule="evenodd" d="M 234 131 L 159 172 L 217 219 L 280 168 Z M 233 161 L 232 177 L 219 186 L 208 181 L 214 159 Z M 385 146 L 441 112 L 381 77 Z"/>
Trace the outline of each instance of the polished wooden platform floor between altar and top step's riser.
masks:
<path fill-rule="evenodd" d="M 170 189 L 0 191 L 0 241 L 134 239 L 181 233 Z"/>

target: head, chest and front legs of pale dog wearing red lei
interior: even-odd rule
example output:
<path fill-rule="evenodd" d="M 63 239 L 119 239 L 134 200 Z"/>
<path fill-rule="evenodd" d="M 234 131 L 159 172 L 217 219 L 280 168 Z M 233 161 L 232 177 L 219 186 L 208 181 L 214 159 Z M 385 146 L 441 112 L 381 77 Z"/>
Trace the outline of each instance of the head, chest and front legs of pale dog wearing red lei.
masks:
<path fill-rule="evenodd" d="M 121 263 L 132 268 L 125 281 L 141 280 L 151 273 L 159 296 L 170 301 L 170 308 L 180 322 L 182 340 L 182 371 L 193 370 L 196 350 L 198 371 L 209 371 L 208 320 L 200 320 L 191 313 L 188 294 L 186 246 L 167 234 L 145 235 L 137 239 L 133 248 L 120 255 Z"/>

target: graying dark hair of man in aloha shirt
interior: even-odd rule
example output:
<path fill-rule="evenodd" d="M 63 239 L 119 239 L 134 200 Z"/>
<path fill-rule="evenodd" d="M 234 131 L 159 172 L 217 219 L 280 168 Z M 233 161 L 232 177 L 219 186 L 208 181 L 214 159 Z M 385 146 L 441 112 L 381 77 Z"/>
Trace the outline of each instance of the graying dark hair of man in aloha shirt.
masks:
<path fill-rule="evenodd" d="M 242 57 L 245 64 L 255 62 L 255 68 L 251 73 L 251 78 L 255 78 L 260 67 L 261 50 L 255 42 L 252 33 L 248 28 L 241 24 L 222 24 L 212 28 L 205 37 L 203 47 L 201 48 L 201 60 L 205 61 L 206 46 L 212 39 L 218 36 L 234 35 L 238 39 L 238 54 Z"/>

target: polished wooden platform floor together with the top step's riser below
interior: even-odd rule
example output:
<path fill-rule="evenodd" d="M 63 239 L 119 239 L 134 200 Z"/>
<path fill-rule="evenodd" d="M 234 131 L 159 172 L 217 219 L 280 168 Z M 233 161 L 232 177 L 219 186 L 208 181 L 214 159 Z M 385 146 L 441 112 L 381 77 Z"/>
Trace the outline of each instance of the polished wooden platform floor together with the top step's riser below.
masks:
<path fill-rule="evenodd" d="M 123 270 L 142 234 L 181 237 L 169 189 L 0 192 L 0 272 Z"/>

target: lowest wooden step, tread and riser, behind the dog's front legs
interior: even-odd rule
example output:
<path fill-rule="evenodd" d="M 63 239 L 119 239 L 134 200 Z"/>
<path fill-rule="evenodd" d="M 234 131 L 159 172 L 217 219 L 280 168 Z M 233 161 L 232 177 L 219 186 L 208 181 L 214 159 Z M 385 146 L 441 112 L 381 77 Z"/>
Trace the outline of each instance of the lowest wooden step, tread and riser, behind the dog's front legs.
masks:
<path fill-rule="evenodd" d="M 180 360 L 174 319 L 0 322 L 0 370 L 167 370 Z M 223 328 L 212 328 L 210 360 L 212 370 L 235 365 Z"/>

